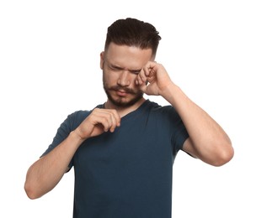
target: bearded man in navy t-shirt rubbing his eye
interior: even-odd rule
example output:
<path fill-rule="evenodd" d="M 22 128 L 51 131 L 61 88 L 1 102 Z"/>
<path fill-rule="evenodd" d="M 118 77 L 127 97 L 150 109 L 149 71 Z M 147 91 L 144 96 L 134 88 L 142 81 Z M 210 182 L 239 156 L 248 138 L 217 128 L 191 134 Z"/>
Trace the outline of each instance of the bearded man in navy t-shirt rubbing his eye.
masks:
<path fill-rule="evenodd" d="M 179 150 L 221 166 L 232 159 L 226 132 L 155 60 L 161 37 L 150 23 L 120 19 L 100 54 L 107 101 L 67 117 L 29 168 L 30 199 L 45 195 L 74 167 L 73 217 L 169 218 Z M 162 96 L 169 106 L 146 100 Z"/>

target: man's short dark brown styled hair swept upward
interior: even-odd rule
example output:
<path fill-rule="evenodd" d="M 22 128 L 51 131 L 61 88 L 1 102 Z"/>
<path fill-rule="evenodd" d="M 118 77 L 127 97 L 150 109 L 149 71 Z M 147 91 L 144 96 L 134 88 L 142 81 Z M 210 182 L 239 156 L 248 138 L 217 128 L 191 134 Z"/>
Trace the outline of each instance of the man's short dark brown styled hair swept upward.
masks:
<path fill-rule="evenodd" d="M 107 50 L 113 42 L 140 49 L 152 49 L 152 54 L 156 55 L 160 40 L 159 32 L 151 23 L 136 18 L 118 19 L 108 28 L 104 49 Z"/>

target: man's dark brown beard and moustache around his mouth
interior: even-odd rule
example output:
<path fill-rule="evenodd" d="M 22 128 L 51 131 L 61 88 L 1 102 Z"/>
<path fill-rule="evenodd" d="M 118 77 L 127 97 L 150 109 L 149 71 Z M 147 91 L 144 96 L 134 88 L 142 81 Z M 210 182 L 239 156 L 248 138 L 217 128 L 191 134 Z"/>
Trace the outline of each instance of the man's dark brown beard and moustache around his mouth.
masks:
<path fill-rule="evenodd" d="M 143 97 L 143 92 L 142 91 L 133 91 L 130 88 L 123 87 L 123 86 L 111 86 L 108 87 L 105 82 L 103 82 L 104 86 L 104 91 L 109 99 L 109 101 L 118 107 L 128 107 L 128 106 L 133 106 L 137 101 L 140 101 L 141 98 Z M 111 95 L 111 91 L 125 91 L 126 93 L 129 94 L 130 97 L 127 99 L 126 97 L 122 96 L 117 96 L 116 98 Z"/>

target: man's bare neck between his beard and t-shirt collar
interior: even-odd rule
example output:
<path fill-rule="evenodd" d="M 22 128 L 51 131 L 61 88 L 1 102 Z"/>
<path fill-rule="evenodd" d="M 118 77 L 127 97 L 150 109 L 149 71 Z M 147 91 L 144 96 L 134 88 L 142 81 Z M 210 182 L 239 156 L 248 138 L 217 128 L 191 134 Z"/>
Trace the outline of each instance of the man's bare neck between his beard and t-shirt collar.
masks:
<path fill-rule="evenodd" d="M 128 113 L 136 111 L 136 109 L 139 106 L 141 106 L 141 104 L 144 101 L 146 101 L 146 99 L 142 97 L 141 100 L 137 101 L 132 106 L 115 106 L 111 101 L 107 100 L 104 103 L 104 107 L 106 109 L 115 109 L 118 112 L 118 114 L 120 115 L 120 117 L 125 117 L 125 115 L 127 115 Z"/>

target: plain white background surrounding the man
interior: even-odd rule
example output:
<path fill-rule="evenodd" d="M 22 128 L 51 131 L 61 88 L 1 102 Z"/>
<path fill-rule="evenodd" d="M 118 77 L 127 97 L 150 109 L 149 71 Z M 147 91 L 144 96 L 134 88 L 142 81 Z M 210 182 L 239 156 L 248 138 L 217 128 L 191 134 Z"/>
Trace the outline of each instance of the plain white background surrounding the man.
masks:
<path fill-rule="evenodd" d="M 69 113 L 105 101 L 106 29 L 134 17 L 156 26 L 157 62 L 235 148 L 221 168 L 179 153 L 173 218 L 255 218 L 255 11 L 253 0 L 1 1 L 0 217 L 72 217 L 72 171 L 38 200 L 25 195 L 25 174 Z"/>

